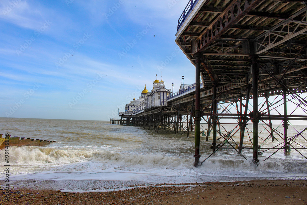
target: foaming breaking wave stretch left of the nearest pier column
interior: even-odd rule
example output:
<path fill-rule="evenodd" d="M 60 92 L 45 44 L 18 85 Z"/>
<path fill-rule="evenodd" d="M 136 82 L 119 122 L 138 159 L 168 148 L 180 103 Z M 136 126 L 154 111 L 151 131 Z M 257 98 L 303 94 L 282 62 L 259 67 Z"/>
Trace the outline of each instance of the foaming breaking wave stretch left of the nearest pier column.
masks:
<path fill-rule="evenodd" d="M 4 153 L 0 153 L 4 159 Z M 119 166 L 143 166 L 187 168 L 191 167 L 192 159 L 163 156 L 161 154 L 125 154 L 92 149 L 54 149 L 37 147 L 11 147 L 11 164 L 71 164 L 84 161 L 93 161 L 106 164 L 118 164 Z M 3 164 L 4 162 L 1 161 Z"/>

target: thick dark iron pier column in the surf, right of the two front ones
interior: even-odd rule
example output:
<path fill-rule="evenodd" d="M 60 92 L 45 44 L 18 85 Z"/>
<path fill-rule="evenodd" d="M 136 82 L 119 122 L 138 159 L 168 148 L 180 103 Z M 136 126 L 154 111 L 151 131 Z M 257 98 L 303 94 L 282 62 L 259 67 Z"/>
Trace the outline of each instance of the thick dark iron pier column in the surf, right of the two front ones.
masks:
<path fill-rule="evenodd" d="M 258 56 L 251 55 L 251 69 L 252 69 L 252 82 L 253 82 L 253 161 L 258 164 L 258 123 L 259 123 L 259 113 L 258 113 Z"/>

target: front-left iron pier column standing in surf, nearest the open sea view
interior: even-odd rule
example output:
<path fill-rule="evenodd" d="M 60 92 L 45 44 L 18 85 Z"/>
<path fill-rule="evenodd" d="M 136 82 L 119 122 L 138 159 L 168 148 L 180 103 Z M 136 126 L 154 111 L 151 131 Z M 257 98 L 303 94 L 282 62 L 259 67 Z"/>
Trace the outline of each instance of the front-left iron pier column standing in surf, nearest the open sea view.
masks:
<path fill-rule="evenodd" d="M 195 161 L 194 166 L 198 167 L 199 164 L 199 146 L 200 146 L 200 61 L 201 54 L 196 53 L 195 55 Z"/>

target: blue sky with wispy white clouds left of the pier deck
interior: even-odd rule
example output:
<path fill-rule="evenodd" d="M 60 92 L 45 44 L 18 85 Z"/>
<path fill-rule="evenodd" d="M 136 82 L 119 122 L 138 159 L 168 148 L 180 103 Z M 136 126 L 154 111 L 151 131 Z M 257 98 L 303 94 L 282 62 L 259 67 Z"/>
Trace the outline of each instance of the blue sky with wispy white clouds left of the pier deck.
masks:
<path fill-rule="evenodd" d="M 109 120 L 161 68 L 166 88 L 192 84 L 174 42 L 187 2 L 1 0 L 0 117 Z"/>

